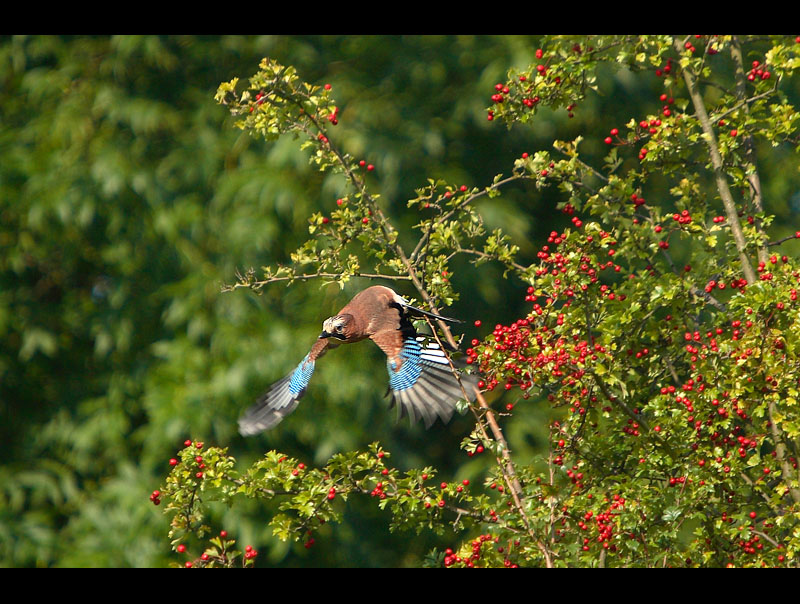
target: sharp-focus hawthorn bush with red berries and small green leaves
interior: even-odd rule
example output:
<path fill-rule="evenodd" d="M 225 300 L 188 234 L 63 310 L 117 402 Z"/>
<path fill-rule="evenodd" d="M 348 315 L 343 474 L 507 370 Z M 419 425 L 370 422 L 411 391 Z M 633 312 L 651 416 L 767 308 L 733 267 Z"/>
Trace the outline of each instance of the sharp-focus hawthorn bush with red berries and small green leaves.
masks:
<path fill-rule="evenodd" d="M 289 279 L 331 278 L 326 271 L 350 278 L 357 273 L 336 264 L 345 249 L 360 267 L 355 254 L 383 248 L 370 270 L 391 266 L 391 276 L 409 279 L 434 310 L 456 299 L 450 276 L 462 255 L 476 266 L 498 262 L 529 286 L 526 313 L 466 350 L 483 394 L 461 447 L 496 460 L 479 488 L 445 481 L 437 493 L 425 485 L 430 468 L 399 473 L 384 466 L 388 455 L 374 444 L 319 470 L 271 452 L 242 480 L 224 472 L 219 497 L 227 501 L 232 485 L 248 496 L 284 497 L 274 531 L 307 546 L 320 526 L 341 520 L 331 502 L 366 494 L 392 513 L 393 529 L 472 535 L 444 553 L 432 550 L 427 566 L 796 565 L 800 270 L 769 248 L 797 235 L 776 239 L 768 230 L 774 217 L 759 166 L 771 163 L 771 148 L 800 150 L 800 114 L 790 101 L 798 41 L 548 39 L 538 63 L 511 70 L 495 87 L 489 121 L 530 122 L 544 107 L 572 112 L 597 90 L 605 64 L 640 77 L 655 71 L 664 90 L 660 113 L 634 116 L 627 133 L 614 127 L 601 168 L 584 158 L 577 137 L 556 142 L 555 154 L 523 154 L 511 176 L 485 188 L 429 179 L 408 203 L 419 213 L 410 254 L 359 165 L 324 125 L 328 95 L 315 96 L 270 61 L 250 89 L 223 85 L 218 100 L 230 95 L 234 113 L 256 114 L 244 128 L 266 136 L 300 131 L 312 161 L 346 177 L 340 205 L 357 211 L 312 217 L 311 234 L 327 239 L 312 239 L 293 256 L 294 267 L 280 267 Z M 753 60 L 748 77 L 743 56 L 766 63 Z M 704 81 L 713 87 L 702 90 Z M 480 198 L 495 199 L 514 182 L 557 189 L 559 208 L 572 217 L 529 265 L 518 262 L 508 234 L 486 231 L 478 209 Z M 352 236 L 373 217 L 374 232 Z M 263 280 L 251 272 L 237 286 L 260 289 L 283 278 L 267 269 Z M 441 337 L 455 342 L 446 328 Z M 500 430 L 497 399 L 492 406 L 484 398 L 500 386 L 509 426 L 518 407 L 552 410 L 549 451 L 531 464 Z M 180 520 L 193 514 L 186 489 L 169 493 L 173 526 L 182 530 L 192 529 Z"/>

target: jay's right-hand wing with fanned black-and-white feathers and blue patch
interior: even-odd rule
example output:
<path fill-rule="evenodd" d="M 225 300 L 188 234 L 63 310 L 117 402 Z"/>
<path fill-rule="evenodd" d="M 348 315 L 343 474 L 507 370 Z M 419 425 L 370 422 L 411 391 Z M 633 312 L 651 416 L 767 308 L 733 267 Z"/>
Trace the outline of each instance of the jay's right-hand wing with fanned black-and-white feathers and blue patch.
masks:
<path fill-rule="evenodd" d="M 463 365 L 449 359 L 435 342 L 389 330 L 371 338 L 386 353 L 390 406 L 397 405 L 398 419 L 408 415 L 412 423 L 422 419 L 430 428 L 437 417 L 450 421 L 456 401 L 465 393 L 468 400 L 475 400 L 477 378 L 461 371 L 457 378 L 453 366 Z"/>

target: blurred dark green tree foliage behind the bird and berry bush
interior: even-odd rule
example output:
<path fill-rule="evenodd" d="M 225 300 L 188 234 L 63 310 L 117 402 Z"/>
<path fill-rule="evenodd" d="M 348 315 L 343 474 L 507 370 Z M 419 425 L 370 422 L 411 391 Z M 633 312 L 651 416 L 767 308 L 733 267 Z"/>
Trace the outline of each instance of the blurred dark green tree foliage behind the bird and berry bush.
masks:
<path fill-rule="evenodd" d="M 333 136 L 375 164 L 374 191 L 410 244 L 405 200 L 428 178 L 483 186 L 522 152 L 577 135 L 591 157 L 609 128 L 639 117 L 632 106 L 658 109 L 656 78 L 623 73 L 572 119 L 542 112 L 511 131 L 488 122 L 494 84 L 536 48 L 520 36 L 0 38 L 0 565 L 179 561 L 148 496 L 186 438 L 230 447 L 243 466 L 269 449 L 313 464 L 380 441 L 400 468 L 480 478 L 488 460 L 458 447 L 469 419 L 428 432 L 397 424 L 384 361 L 367 344 L 326 356 L 278 429 L 238 435 L 239 414 L 370 283 L 220 293 L 237 269 L 288 261 L 341 183 L 291 138 L 242 134 L 213 95 L 264 56 L 332 84 Z M 523 262 L 568 224 L 554 195 L 520 186 L 483 202 Z M 525 284 L 501 275 L 456 270 L 462 298 L 448 314 L 469 321 L 467 338 L 525 312 Z M 542 413 L 528 406 L 508 428 L 523 461 L 545 443 Z M 259 566 L 419 565 L 457 542 L 392 534 L 374 500 L 351 500 L 345 522 L 306 550 L 272 537 L 273 512 L 242 501 L 216 510 L 214 528 L 256 547 Z"/>

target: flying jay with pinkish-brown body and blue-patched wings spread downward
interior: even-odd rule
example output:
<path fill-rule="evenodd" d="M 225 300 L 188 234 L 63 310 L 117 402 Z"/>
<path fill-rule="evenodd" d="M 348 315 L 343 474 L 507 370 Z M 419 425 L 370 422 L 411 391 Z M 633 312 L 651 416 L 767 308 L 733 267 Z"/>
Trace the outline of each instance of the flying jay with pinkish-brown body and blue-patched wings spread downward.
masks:
<path fill-rule="evenodd" d="M 390 407 L 397 405 L 398 419 L 405 415 L 412 422 L 422 419 L 426 428 L 437 417 L 447 423 L 456 401 L 475 400 L 477 378 L 457 372 L 463 364 L 456 364 L 438 344 L 417 334 L 411 318 L 425 316 L 460 323 L 411 306 L 388 287 L 376 285 L 359 292 L 322 323 L 322 333 L 294 371 L 273 384 L 245 412 L 239 420 L 239 432 L 251 436 L 276 426 L 297 408 L 317 359 L 330 348 L 366 338 L 386 354 L 387 394 L 392 395 Z"/>

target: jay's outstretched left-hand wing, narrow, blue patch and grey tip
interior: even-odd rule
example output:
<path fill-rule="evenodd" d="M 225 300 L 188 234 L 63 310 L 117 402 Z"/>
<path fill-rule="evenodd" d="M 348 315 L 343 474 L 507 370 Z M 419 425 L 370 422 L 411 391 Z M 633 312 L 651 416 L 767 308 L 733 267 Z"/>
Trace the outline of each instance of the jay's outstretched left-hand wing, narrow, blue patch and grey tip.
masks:
<path fill-rule="evenodd" d="M 275 382 L 239 419 L 239 433 L 252 436 L 277 426 L 297 408 L 306 393 L 316 360 L 332 348 L 328 338 L 317 340 L 300 364 L 289 375 Z"/>

